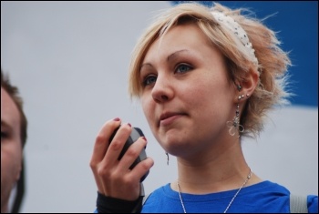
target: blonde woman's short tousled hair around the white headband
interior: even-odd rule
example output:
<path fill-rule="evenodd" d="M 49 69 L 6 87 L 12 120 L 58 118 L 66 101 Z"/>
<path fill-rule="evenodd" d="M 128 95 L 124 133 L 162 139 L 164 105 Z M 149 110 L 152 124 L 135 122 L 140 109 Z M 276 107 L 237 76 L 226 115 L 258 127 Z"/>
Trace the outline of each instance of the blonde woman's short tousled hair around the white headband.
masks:
<path fill-rule="evenodd" d="M 246 53 L 247 48 L 238 46 L 234 34 L 220 25 L 211 14 L 212 11 L 231 16 L 246 32 L 252 43 L 254 55 L 258 65 L 253 63 L 252 57 Z M 287 85 L 286 71 L 291 66 L 288 54 L 280 47 L 280 41 L 273 30 L 248 15 L 241 15 L 246 9 L 232 10 L 215 3 L 211 8 L 196 3 L 175 5 L 161 13 L 133 49 L 129 66 L 129 95 L 139 97 L 141 83 L 139 81 L 140 65 L 149 50 L 149 46 L 167 33 L 174 25 L 193 23 L 210 39 L 211 44 L 221 50 L 228 67 L 230 80 L 241 82 L 247 72 L 258 72 L 259 83 L 246 106 L 242 109 L 241 124 L 245 128 L 242 136 L 256 137 L 263 128 L 263 120 L 268 110 L 275 105 L 288 102 L 290 94 L 285 91 Z"/>

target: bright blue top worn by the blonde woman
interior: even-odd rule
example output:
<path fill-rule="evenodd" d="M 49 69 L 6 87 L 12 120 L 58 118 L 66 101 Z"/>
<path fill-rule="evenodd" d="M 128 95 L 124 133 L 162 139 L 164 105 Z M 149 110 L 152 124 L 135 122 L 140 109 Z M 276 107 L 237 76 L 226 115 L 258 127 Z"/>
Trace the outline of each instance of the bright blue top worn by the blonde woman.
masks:
<path fill-rule="evenodd" d="M 192 195 L 181 193 L 186 212 L 208 213 L 224 212 L 232 197 L 238 189 L 211 193 L 205 195 Z M 242 188 L 237 197 L 233 200 L 227 212 L 244 213 L 279 213 L 290 212 L 290 191 L 281 185 L 271 181 Z M 308 211 L 318 212 L 318 196 L 307 196 Z M 141 212 L 183 212 L 180 203 L 179 193 L 170 189 L 167 184 L 153 191 L 146 200 Z"/>

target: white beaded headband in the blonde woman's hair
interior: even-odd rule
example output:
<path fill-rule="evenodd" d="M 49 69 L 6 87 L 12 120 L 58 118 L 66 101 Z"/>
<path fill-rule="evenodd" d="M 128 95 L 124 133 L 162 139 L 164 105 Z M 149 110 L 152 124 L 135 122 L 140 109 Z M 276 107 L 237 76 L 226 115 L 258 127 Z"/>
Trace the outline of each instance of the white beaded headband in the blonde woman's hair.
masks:
<path fill-rule="evenodd" d="M 246 32 L 244 31 L 244 29 L 242 29 L 242 26 L 239 25 L 231 16 L 224 15 L 221 12 L 213 11 L 211 12 L 211 14 L 220 24 L 223 24 L 229 30 L 231 30 L 232 33 L 238 38 L 238 40 L 241 41 L 242 46 L 244 46 L 248 50 L 248 53 L 252 58 L 253 64 L 257 66 L 258 59 L 254 54 L 255 50 L 253 49 L 252 43 L 249 41 Z"/>

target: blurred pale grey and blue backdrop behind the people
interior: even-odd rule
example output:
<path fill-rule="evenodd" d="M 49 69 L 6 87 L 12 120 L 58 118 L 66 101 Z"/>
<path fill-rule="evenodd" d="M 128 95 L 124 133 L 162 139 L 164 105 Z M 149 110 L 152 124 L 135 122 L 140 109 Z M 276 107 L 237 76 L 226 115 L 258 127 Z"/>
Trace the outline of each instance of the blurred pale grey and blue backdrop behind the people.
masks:
<path fill-rule="evenodd" d="M 211 2 L 201 2 L 211 5 Z M 277 32 L 293 65 L 292 105 L 275 108 L 247 162 L 261 178 L 294 194 L 318 195 L 318 2 L 220 2 L 247 7 Z M 155 165 L 147 193 L 177 178 L 176 160 L 152 136 L 129 99 L 133 46 L 159 10 L 180 2 L 1 1 L 1 67 L 25 100 L 28 138 L 21 212 L 93 212 L 97 188 L 88 166 L 99 128 L 120 117 L 140 127 Z"/>

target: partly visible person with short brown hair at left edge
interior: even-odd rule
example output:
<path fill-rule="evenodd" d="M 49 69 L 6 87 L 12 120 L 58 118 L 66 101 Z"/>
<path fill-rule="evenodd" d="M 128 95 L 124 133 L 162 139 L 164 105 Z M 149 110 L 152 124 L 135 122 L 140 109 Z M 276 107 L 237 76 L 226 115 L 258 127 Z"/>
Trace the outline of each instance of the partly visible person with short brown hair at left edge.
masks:
<path fill-rule="evenodd" d="M 1 70 L 1 212 L 18 211 L 9 207 L 12 190 L 20 182 L 23 168 L 23 148 L 26 144 L 27 120 L 18 88 L 11 85 Z M 19 193 L 19 186 L 17 187 Z M 18 199 L 21 202 L 20 198 Z M 15 200 L 16 201 L 16 200 Z"/>

